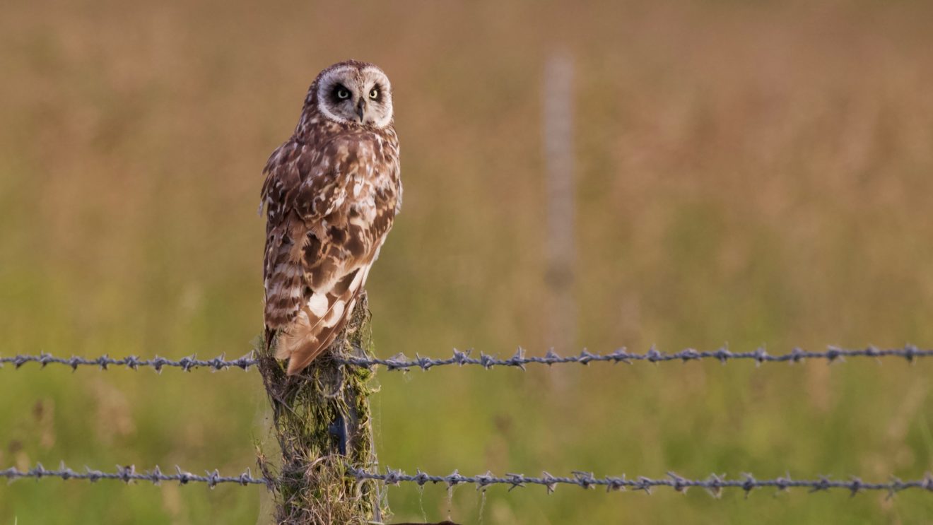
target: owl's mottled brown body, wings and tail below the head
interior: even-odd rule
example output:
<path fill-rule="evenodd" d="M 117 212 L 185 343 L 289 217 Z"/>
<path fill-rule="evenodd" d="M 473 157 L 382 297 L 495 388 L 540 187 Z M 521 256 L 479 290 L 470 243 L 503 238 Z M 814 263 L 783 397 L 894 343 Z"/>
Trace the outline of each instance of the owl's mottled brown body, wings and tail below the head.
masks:
<path fill-rule="evenodd" d="M 293 138 L 266 165 L 265 325 L 276 357 L 298 373 L 353 311 L 401 201 L 391 130 Z"/>

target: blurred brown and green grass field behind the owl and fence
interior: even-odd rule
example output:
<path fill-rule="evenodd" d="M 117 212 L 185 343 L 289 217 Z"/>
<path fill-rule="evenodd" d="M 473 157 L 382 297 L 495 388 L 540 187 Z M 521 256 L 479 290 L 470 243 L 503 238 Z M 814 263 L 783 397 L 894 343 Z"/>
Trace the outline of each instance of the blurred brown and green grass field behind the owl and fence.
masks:
<path fill-rule="evenodd" d="M 543 64 L 576 60 L 578 347 L 933 344 L 924 3 L 60 2 L 0 18 L 0 352 L 239 356 L 260 170 L 313 76 L 377 62 L 405 206 L 377 352 L 542 354 Z M 382 372 L 383 464 L 686 477 L 933 469 L 933 364 Z M 554 376 L 561 375 L 560 378 Z M 258 374 L 0 370 L 0 467 L 238 473 Z M 260 488 L 20 481 L 0 523 L 263 523 Z M 919 491 L 390 490 L 399 519 L 921 523 Z"/>

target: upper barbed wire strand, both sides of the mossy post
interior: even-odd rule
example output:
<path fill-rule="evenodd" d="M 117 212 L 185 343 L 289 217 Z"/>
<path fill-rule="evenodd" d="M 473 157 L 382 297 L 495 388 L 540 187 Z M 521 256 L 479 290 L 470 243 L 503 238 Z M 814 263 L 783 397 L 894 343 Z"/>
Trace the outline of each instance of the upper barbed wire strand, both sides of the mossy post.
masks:
<path fill-rule="evenodd" d="M 829 346 L 828 349 L 824 352 L 811 352 L 802 350 L 801 348 L 794 348 L 792 351 L 782 354 L 770 354 L 764 348 L 759 348 L 751 352 L 731 352 L 726 348 L 701 352 L 688 348 L 680 352 L 668 353 L 659 352 L 654 347 L 652 347 L 650 350 L 648 350 L 648 352 L 644 353 L 628 352 L 625 348 L 620 348 L 619 350 L 611 353 L 592 353 L 588 352 L 587 350 L 583 350 L 577 355 L 559 355 L 553 351 L 549 351 L 543 356 L 529 356 L 526 354 L 524 349 L 519 348 L 517 352 L 508 358 L 497 357 L 485 352 L 480 352 L 479 357 L 474 357 L 473 351 L 467 350 L 466 352 L 461 352 L 454 349 L 453 355 L 447 358 L 423 357 L 417 353 L 415 354 L 415 357 L 411 358 L 404 353 L 397 353 L 396 355 L 386 359 L 381 359 L 378 357 L 334 357 L 333 359 L 334 361 L 343 365 L 365 367 L 382 365 L 385 366 L 388 370 L 409 371 L 411 368 L 421 368 L 422 370 L 428 370 L 435 366 L 451 365 L 482 366 L 486 369 L 494 368 L 496 366 L 511 366 L 524 370 L 525 366 L 527 365 L 589 365 L 590 363 L 624 363 L 631 365 L 635 361 L 648 361 L 650 363 L 681 361 L 686 363 L 688 361 L 716 360 L 725 364 L 734 360 L 748 360 L 754 361 L 757 365 L 761 365 L 762 363 L 800 363 L 807 359 L 818 359 L 833 363 L 836 361 L 844 361 L 846 358 L 850 357 L 873 357 L 876 359 L 883 357 L 899 357 L 903 358 L 907 362 L 912 363 L 915 359 L 933 357 L 933 350 L 924 350 L 913 345 L 906 345 L 903 348 L 879 349 L 870 346 L 865 349 L 854 350 Z M 37 363 L 42 367 L 48 365 L 64 365 L 70 366 L 73 370 L 77 370 L 79 366 L 95 366 L 102 370 L 106 370 L 112 366 L 123 366 L 132 368 L 133 370 L 139 369 L 141 367 L 150 367 L 155 369 L 157 372 L 161 372 L 162 369 L 167 367 L 181 368 L 182 370 L 189 372 L 195 368 L 210 368 L 215 371 L 225 370 L 228 368 L 240 368 L 243 370 L 248 370 L 250 367 L 258 365 L 258 359 L 255 357 L 254 352 L 249 352 L 239 359 L 232 360 L 228 360 L 224 354 L 221 354 L 214 359 L 206 360 L 198 359 L 195 355 L 182 357 L 181 359 L 177 360 L 167 359 L 160 356 L 156 356 L 152 359 L 142 359 L 134 355 L 122 358 L 113 358 L 106 354 L 94 358 L 78 357 L 75 355 L 71 357 L 56 357 L 46 352 L 42 352 L 37 355 L 24 354 L 8 357 L 0 356 L 0 367 L 11 364 L 19 369 L 21 366 L 28 363 Z"/>

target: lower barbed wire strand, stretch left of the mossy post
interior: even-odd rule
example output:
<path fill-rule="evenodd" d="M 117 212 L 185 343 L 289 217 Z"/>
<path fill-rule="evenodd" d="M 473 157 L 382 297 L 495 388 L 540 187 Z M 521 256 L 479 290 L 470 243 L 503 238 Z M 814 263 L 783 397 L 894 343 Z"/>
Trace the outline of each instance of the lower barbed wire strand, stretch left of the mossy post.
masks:
<path fill-rule="evenodd" d="M 42 479 L 43 477 L 87 479 L 91 481 L 91 483 L 101 479 L 118 479 L 124 483 L 129 483 L 131 481 L 149 481 L 153 485 L 159 485 L 162 481 L 177 481 L 180 485 L 187 485 L 188 483 L 206 483 L 211 489 L 220 483 L 236 483 L 244 487 L 246 485 L 257 484 L 270 485 L 270 481 L 264 477 L 253 477 L 248 468 L 244 470 L 243 474 L 240 476 L 220 476 L 220 473 L 216 470 L 214 472 L 207 472 L 206 476 L 198 476 L 197 474 L 191 474 L 190 472 L 182 470 L 181 467 L 177 465 L 175 466 L 174 474 L 162 473 L 158 465 L 146 472 L 136 472 L 136 467 L 134 465 L 117 465 L 116 472 L 102 472 L 100 470 L 92 470 L 88 467 L 84 468 L 85 470 L 83 472 L 75 471 L 65 466 L 63 462 L 59 465 L 58 469 L 49 470 L 42 466 L 42 463 L 35 463 L 35 467 L 29 470 L 19 470 L 15 467 L 7 468 L 7 470 L 0 470 L 0 477 L 6 477 L 10 482 L 23 477 L 33 477 L 35 479 Z"/>

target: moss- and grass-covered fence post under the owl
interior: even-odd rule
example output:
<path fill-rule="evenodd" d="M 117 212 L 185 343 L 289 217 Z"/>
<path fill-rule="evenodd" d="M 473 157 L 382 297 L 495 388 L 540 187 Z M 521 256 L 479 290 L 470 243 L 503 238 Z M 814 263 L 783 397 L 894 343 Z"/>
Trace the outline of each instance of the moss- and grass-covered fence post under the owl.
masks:
<path fill-rule="evenodd" d="M 276 523 L 369 523 L 388 513 L 378 482 L 357 479 L 346 469 L 369 470 L 376 464 L 369 416 L 374 373 L 333 359 L 371 358 L 371 346 L 365 292 L 341 337 L 298 376 L 286 376 L 284 364 L 272 356 L 274 345 L 266 353 L 260 343 L 258 368 L 282 448 L 275 466 L 259 458 L 263 474 L 274 479 Z"/>

